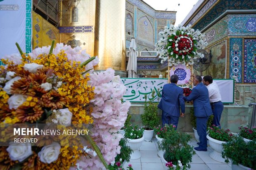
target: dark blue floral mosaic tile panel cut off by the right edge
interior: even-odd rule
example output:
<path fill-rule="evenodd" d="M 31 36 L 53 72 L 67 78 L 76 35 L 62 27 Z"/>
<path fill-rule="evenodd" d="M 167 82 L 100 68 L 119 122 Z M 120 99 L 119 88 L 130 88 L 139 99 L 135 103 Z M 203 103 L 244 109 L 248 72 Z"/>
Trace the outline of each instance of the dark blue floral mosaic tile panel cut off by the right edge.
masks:
<path fill-rule="evenodd" d="M 256 83 L 256 39 L 244 40 L 244 83 Z"/>

